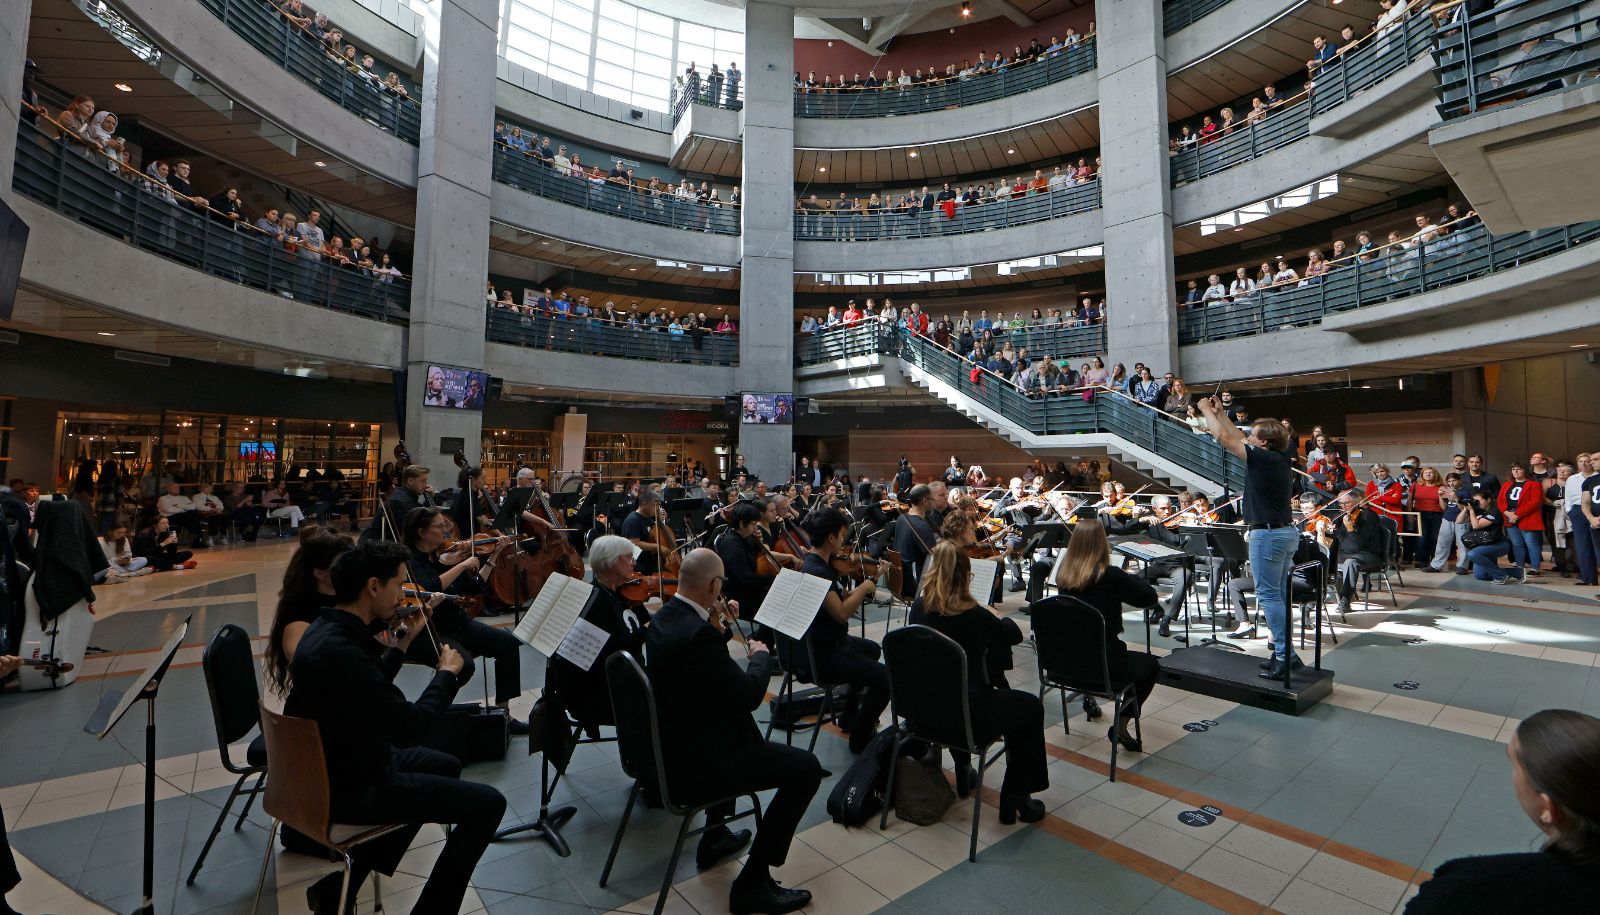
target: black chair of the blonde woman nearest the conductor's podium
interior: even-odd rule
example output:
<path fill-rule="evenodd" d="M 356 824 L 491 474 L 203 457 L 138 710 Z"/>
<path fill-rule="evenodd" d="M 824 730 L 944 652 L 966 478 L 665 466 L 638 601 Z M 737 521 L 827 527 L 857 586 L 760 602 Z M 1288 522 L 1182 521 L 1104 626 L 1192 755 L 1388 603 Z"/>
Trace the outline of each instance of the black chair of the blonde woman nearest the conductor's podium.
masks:
<path fill-rule="evenodd" d="M 1067 694 L 1091 696 L 1110 702 L 1112 734 L 1122 733 L 1123 712 L 1138 702 L 1133 681 L 1110 678 L 1110 649 L 1106 643 L 1106 619 L 1099 611 L 1070 593 L 1040 601 L 1032 614 L 1034 646 L 1038 656 L 1038 697 L 1056 689 L 1061 696 L 1061 726 L 1067 728 Z M 1070 733 L 1070 729 L 1067 731 Z M 1133 720 L 1133 736 L 1144 739 L 1139 718 Z M 1117 747 L 1110 742 L 1110 781 L 1117 781 Z"/>

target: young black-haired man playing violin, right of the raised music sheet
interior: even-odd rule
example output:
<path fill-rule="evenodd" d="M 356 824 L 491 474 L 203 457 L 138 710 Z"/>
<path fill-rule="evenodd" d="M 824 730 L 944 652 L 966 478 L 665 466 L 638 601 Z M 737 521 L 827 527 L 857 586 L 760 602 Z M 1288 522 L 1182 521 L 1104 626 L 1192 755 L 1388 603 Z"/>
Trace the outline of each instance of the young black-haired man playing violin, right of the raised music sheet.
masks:
<path fill-rule="evenodd" d="M 922 491 L 922 504 L 928 504 L 928 488 L 912 486 L 912 494 Z M 915 510 L 915 505 L 914 505 Z M 920 515 L 915 518 L 923 526 L 928 525 Z M 850 731 L 850 752 L 859 753 L 867 749 L 878 733 L 878 717 L 890 704 L 890 675 L 878 664 L 883 653 L 877 641 L 850 635 L 850 621 L 861 609 L 869 597 L 877 593 L 875 581 L 864 581 L 846 589 L 834 573 L 832 560 L 845 552 L 845 536 L 850 533 L 850 520 L 837 510 L 811 512 L 805 520 L 805 533 L 811 537 L 811 550 L 805 555 L 800 571 L 834 582 L 822 609 L 811 621 L 806 638 L 811 641 L 811 654 L 816 657 L 813 677 L 805 680 L 822 683 L 848 683 L 850 691 L 845 699 L 845 713 L 840 717 L 840 728 Z M 933 545 L 933 531 L 928 529 L 928 544 Z M 926 555 L 926 553 L 923 553 Z M 920 561 L 920 560 L 918 560 Z M 802 657 L 794 657 L 794 664 L 805 667 Z M 800 675 L 800 672 L 797 672 Z"/>

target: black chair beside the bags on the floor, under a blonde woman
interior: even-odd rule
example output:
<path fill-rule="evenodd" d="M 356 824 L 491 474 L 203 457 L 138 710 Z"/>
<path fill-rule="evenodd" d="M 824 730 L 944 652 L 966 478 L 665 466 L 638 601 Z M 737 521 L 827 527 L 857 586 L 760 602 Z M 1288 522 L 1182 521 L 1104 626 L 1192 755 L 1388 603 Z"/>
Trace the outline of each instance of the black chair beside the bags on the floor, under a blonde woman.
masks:
<path fill-rule="evenodd" d="M 966 753 L 978 760 L 978 784 L 973 787 L 973 829 L 966 859 L 978 861 L 978 817 L 984 808 L 984 769 L 1006 750 L 1005 737 L 984 742 L 973 739 L 973 709 L 966 691 L 966 653 L 949 635 L 922 624 L 902 625 L 883 637 L 883 667 L 890 675 L 890 715 L 894 728 L 898 761 L 906 741 L 923 741 Z M 1000 749 L 989 753 L 989 747 Z M 894 763 L 890 765 L 883 790 L 883 813 L 878 829 L 890 824 L 894 803 Z"/>

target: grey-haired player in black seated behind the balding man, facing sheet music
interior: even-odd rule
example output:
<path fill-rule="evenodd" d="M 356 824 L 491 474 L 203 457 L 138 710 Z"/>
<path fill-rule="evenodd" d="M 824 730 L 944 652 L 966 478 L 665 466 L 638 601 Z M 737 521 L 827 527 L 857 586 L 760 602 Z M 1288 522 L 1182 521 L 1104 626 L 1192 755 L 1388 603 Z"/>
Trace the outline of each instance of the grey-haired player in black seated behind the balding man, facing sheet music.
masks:
<path fill-rule="evenodd" d="M 634 544 L 622 537 L 605 534 L 595 537 L 589 545 L 589 568 L 594 571 L 595 597 L 584 611 L 584 619 L 598 625 L 606 633 L 605 648 L 589 665 L 589 670 L 578 667 L 562 656 L 552 659 L 555 673 L 546 688 L 554 683 L 562 705 L 574 720 L 586 726 L 611 725 L 611 688 L 605 678 L 605 662 L 618 651 L 629 651 L 640 657 L 645 645 L 645 632 L 650 625 L 650 611 L 643 606 L 632 606 L 618 589 L 634 577 Z"/>

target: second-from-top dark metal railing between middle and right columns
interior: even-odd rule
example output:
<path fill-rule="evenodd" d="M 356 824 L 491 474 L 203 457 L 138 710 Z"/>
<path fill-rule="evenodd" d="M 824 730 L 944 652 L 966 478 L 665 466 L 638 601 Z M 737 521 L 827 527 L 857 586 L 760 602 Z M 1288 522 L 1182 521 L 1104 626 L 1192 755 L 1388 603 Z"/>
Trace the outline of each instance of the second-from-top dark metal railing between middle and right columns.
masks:
<path fill-rule="evenodd" d="M 1029 226 L 1061 216 L 1099 210 L 1099 179 L 1074 184 L 1059 190 L 1027 194 L 989 203 L 957 205 L 955 216 L 946 218 L 944 210 L 893 210 L 874 213 L 859 210 L 834 213 L 830 210 L 795 211 L 795 238 L 808 242 L 864 242 L 875 238 L 931 238 L 938 235 L 966 235 L 990 232 L 1013 226 Z"/>

